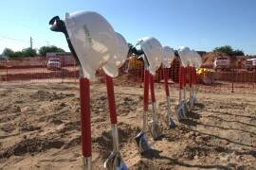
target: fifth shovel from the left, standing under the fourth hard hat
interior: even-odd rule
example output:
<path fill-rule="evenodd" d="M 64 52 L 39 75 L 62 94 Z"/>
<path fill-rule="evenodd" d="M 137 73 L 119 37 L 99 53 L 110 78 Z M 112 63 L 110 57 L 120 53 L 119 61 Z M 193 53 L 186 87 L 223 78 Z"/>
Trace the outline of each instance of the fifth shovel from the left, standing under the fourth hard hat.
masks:
<path fill-rule="evenodd" d="M 174 128 L 175 123 L 174 120 L 171 117 L 171 98 L 169 93 L 169 86 L 168 86 L 168 76 L 167 76 L 167 68 L 163 68 L 163 76 L 164 76 L 164 87 L 165 87 L 165 93 L 166 93 L 166 100 L 167 100 L 167 112 L 166 112 L 166 125 L 169 128 Z"/>

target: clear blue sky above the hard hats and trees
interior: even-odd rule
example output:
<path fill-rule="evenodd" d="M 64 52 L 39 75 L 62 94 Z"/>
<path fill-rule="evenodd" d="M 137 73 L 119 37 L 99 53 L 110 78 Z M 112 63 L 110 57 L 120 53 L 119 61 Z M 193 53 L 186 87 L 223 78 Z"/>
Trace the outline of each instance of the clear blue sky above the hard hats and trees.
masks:
<path fill-rule="evenodd" d="M 0 6 L 0 53 L 57 45 L 68 50 L 64 35 L 51 32 L 48 21 L 65 12 L 101 13 L 127 42 L 154 36 L 163 45 L 210 51 L 229 44 L 256 55 L 255 0 L 8 0 Z"/>

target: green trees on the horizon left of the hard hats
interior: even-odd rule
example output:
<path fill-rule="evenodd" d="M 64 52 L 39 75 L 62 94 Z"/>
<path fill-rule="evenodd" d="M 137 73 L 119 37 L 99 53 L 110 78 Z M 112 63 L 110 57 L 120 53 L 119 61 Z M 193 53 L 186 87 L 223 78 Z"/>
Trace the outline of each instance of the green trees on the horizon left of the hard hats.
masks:
<path fill-rule="evenodd" d="M 51 46 L 42 46 L 39 48 L 38 51 L 30 47 L 24 48 L 21 51 L 13 51 L 10 48 L 5 48 L 2 55 L 9 58 L 26 58 L 26 57 L 36 57 L 36 56 L 46 57 L 46 53 L 58 53 L 58 52 L 65 52 L 65 51 L 62 48 L 51 45 Z"/>

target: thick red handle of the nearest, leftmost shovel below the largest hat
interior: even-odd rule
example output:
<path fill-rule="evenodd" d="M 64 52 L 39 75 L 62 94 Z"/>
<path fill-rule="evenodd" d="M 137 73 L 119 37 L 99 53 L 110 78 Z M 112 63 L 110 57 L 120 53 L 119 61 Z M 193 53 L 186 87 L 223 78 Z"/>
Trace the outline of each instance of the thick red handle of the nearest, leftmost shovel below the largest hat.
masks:
<path fill-rule="evenodd" d="M 82 156 L 91 157 L 91 106 L 90 81 L 80 78 L 80 104 L 81 104 L 81 130 L 82 130 Z"/>

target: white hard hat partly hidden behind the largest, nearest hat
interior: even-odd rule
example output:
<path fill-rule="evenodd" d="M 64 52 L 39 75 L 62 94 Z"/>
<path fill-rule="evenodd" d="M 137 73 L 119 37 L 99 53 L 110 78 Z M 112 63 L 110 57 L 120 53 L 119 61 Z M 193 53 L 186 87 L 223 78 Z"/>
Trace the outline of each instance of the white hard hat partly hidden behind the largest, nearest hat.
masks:
<path fill-rule="evenodd" d="M 119 68 L 124 64 L 127 59 L 127 54 L 129 51 L 128 43 L 124 37 L 116 32 L 118 49 L 117 54 L 109 59 L 107 63 L 102 67 L 105 74 L 111 77 L 119 76 Z"/>

